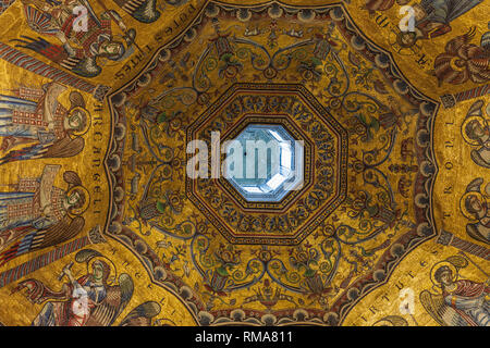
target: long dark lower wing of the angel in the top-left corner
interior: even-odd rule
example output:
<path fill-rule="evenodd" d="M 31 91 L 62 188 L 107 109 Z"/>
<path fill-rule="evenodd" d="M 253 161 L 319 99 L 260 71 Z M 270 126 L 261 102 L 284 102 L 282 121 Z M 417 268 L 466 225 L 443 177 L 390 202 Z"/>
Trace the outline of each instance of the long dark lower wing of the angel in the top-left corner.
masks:
<path fill-rule="evenodd" d="M 15 45 L 15 47 L 25 48 L 36 53 L 42 54 L 47 59 L 60 64 L 61 66 L 76 75 L 84 77 L 95 77 L 102 71 L 102 69 L 97 65 L 96 59 L 94 57 L 81 58 L 81 51 L 73 49 L 68 44 L 65 44 L 64 46 L 59 46 L 48 42 L 41 37 L 37 37 L 37 39 L 25 35 L 21 35 L 21 37 L 22 40 L 12 39 L 12 41 L 19 42 Z"/>

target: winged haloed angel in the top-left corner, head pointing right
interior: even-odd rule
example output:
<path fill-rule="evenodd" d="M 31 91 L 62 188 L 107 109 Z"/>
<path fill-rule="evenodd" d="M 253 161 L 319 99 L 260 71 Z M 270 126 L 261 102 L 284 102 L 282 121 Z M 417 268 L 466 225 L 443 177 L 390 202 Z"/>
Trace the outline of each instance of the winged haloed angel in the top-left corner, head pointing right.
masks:
<path fill-rule="evenodd" d="M 101 60 L 122 61 L 133 53 L 136 30 L 127 29 L 115 11 L 107 10 L 97 15 L 87 0 L 22 2 L 28 26 L 37 34 L 56 37 L 59 44 L 21 35 L 21 39 L 13 39 L 16 47 L 42 54 L 74 74 L 95 77 L 102 71 Z M 98 2 L 103 5 L 102 1 Z M 88 12 L 86 30 L 74 28 L 77 18 L 74 10 L 81 5 Z M 112 22 L 123 33 L 120 39 L 112 30 Z"/>

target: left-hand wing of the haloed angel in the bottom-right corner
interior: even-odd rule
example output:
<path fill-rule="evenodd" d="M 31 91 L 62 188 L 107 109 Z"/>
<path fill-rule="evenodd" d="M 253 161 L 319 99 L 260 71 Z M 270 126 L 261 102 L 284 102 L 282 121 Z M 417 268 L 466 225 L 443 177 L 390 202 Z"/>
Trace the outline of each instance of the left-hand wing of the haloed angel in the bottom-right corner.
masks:
<path fill-rule="evenodd" d="M 468 323 L 454 310 L 444 302 L 442 295 L 434 295 L 428 290 L 420 293 L 420 302 L 426 311 L 441 326 L 468 326 Z"/>

